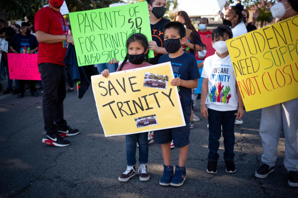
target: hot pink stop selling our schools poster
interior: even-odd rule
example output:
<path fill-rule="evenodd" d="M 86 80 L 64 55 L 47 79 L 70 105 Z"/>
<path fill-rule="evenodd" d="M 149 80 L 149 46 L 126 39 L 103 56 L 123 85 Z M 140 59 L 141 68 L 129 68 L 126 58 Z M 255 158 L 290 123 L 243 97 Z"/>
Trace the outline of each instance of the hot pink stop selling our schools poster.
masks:
<path fill-rule="evenodd" d="M 10 79 L 41 80 L 37 54 L 7 54 Z"/>

